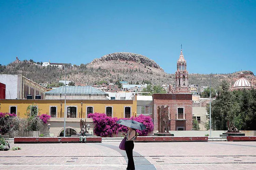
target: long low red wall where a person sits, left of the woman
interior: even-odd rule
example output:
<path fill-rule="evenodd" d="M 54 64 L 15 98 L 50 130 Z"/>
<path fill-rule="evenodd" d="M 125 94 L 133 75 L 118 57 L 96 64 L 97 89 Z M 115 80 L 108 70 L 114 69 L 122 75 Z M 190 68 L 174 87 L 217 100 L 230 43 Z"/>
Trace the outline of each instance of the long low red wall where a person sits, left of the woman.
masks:
<path fill-rule="evenodd" d="M 79 137 L 15 137 L 14 143 L 79 143 Z M 86 137 L 87 143 L 101 143 L 101 137 Z"/>

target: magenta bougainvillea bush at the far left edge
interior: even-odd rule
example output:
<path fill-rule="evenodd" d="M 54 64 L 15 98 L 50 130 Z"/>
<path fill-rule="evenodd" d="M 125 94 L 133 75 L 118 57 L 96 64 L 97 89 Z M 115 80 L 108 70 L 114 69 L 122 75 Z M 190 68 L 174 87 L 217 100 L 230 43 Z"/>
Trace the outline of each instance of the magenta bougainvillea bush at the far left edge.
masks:
<path fill-rule="evenodd" d="M 0 133 L 6 134 L 13 127 L 12 119 L 15 118 L 15 114 L 0 113 Z"/>

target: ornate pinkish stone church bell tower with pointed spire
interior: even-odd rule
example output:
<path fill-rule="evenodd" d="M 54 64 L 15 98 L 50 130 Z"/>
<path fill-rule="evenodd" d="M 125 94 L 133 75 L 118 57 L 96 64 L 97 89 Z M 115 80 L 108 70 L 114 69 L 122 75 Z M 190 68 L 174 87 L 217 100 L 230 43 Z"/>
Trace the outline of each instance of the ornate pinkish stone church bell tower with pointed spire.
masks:
<path fill-rule="evenodd" d="M 175 71 L 175 81 L 176 86 L 174 93 L 189 93 L 188 89 L 188 71 L 187 71 L 187 61 L 185 60 L 182 53 L 182 44 L 181 44 L 181 53 L 180 58 L 177 61 L 177 70 Z"/>

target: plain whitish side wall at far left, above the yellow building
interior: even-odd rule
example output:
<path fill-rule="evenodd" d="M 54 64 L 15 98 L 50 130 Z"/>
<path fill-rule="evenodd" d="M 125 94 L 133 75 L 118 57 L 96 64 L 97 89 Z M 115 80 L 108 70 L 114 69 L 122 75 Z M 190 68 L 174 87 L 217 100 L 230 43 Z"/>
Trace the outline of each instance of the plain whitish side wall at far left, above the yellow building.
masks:
<path fill-rule="evenodd" d="M 6 85 L 5 99 L 18 98 L 18 75 L 0 74 L 0 82 Z"/>

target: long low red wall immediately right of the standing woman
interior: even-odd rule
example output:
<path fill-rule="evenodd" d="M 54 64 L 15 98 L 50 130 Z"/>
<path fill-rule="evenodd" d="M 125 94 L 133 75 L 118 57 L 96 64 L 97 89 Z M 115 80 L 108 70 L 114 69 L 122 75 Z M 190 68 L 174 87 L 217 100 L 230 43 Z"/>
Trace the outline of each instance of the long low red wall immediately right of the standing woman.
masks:
<path fill-rule="evenodd" d="M 138 136 L 135 142 L 207 142 L 207 136 L 174 137 L 174 136 Z"/>

